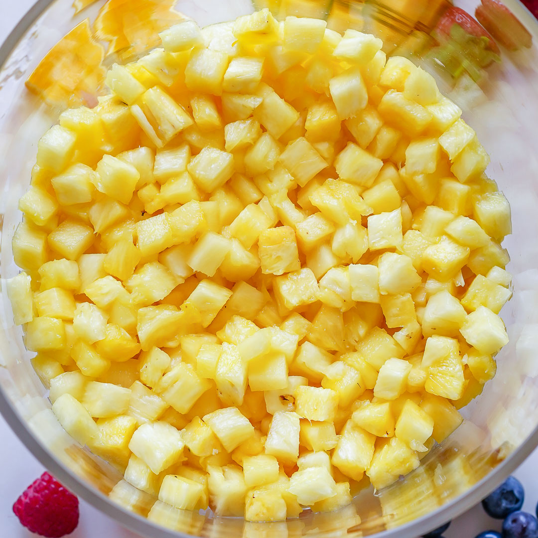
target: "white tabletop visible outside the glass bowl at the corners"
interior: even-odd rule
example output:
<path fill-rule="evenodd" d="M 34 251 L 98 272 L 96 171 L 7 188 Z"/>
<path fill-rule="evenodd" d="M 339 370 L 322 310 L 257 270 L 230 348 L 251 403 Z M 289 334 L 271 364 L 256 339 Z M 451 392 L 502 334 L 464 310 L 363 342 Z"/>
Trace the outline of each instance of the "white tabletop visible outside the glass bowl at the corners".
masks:
<path fill-rule="evenodd" d="M 32 3 L 33 0 L 0 0 L 2 8 L 0 10 L 0 43 L 8 36 Z M 11 507 L 19 494 L 44 470 L 0 417 L 1 538 L 37 536 L 20 525 Z M 534 513 L 538 501 L 537 472 L 538 450 L 515 473 L 525 486 L 526 500 L 523 508 L 531 513 Z M 489 518 L 479 505 L 455 520 L 444 536 L 445 538 L 473 538 L 483 530 L 500 530 L 500 525 L 500 521 Z M 138 538 L 138 535 L 117 525 L 84 501 L 81 501 L 80 506 L 79 527 L 70 536 L 72 538 Z"/>

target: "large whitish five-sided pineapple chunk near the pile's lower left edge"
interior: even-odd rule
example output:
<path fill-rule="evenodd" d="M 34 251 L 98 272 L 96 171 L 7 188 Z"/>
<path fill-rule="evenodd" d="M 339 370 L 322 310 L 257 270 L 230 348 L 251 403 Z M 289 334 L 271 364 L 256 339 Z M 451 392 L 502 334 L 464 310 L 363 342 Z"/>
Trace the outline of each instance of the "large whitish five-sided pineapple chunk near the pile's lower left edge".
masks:
<path fill-rule="evenodd" d="M 185 442 L 167 422 L 147 422 L 137 428 L 129 442 L 131 452 L 155 475 L 180 461 Z"/>

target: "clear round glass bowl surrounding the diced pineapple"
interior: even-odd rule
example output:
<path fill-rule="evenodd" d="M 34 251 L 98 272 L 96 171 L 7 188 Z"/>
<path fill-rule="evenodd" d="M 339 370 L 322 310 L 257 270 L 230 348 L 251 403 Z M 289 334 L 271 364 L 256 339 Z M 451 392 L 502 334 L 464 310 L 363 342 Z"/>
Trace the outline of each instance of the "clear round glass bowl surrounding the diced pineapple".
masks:
<path fill-rule="evenodd" d="M 174 1 L 116 1 L 121 6 L 121 16 L 115 19 L 121 35 L 116 40 L 99 36 L 101 43 L 108 39 L 105 53 L 93 41 L 90 26 L 103 0 L 76 14 L 72 0 L 38 0 L 0 48 L 0 410 L 34 456 L 80 497 L 145 536 L 415 538 L 475 505 L 499 485 L 538 444 L 538 23 L 519 2 L 505 3 L 526 26 L 533 44 L 515 52 L 501 48 L 493 64 L 484 67 L 491 58 L 483 61 L 476 54 L 480 43 L 473 42 L 471 50 L 457 32 L 444 40 L 436 34 L 437 19 L 447 8 L 444 0 L 254 2 L 256 7 L 268 5 L 279 17 L 315 16 L 327 19 L 336 30 L 354 27 L 376 33 L 385 40 L 387 53 L 407 55 L 434 74 L 491 155 L 487 173 L 511 203 L 513 234 L 504 246 L 512 257 L 508 270 L 514 278 L 513 298 L 502 310 L 510 342 L 497 356 L 497 375 L 463 408 L 463 424 L 430 450 L 418 469 L 384 490 L 363 489 L 338 512 L 305 511 L 285 522 L 250 523 L 172 508 L 126 483 L 118 471 L 77 444 L 56 421 L 47 390 L 30 365 L 22 330 L 13 324 L 5 281 L 18 272 L 11 239 L 21 218 L 17 202 L 29 185 L 38 139 L 65 107 L 66 96 L 70 105 L 95 104 L 95 96 L 105 91 L 102 66 L 127 61 L 157 45 L 155 32 L 178 17 L 168 11 Z M 83 5 L 84 0 L 75 4 Z M 477 5 L 460 4 L 470 13 Z M 179 0 L 176 9 L 202 26 L 249 13 L 254 6 L 249 0 Z M 34 78 L 29 91 L 25 81 L 33 69 L 79 23 L 82 42 L 64 41 L 60 51 L 56 48 L 49 78 L 42 76 L 37 83 Z M 84 38 L 84 32 L 89 37 Z"/>

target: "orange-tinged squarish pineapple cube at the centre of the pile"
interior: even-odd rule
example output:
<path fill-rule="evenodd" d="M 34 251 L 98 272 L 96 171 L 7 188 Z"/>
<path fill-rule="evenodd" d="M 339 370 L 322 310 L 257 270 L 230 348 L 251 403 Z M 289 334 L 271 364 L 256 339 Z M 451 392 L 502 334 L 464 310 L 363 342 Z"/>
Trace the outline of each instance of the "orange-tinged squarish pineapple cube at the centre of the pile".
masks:
<path fill-rule="evenodd" d="M 261 272 L 281 275 L 299 270 L 299 251 L 295 232 L 289 226 L 268 228 L 261 231 L 258 239 L 258 256 Z"/>

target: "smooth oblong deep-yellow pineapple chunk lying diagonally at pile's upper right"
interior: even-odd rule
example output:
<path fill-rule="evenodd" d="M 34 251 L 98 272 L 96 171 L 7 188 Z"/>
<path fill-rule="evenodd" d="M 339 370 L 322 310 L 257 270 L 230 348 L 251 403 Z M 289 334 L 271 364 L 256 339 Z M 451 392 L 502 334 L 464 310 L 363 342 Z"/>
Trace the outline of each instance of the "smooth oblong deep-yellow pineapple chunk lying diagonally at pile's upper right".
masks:
<path fill-rule="evenodd" d="M 431 114 L 426 108 L 394 89 L 388 90 L 381 98 L 378 112 L 385 122 L 412 138 L 421 134 L 431 121 Z"/>

